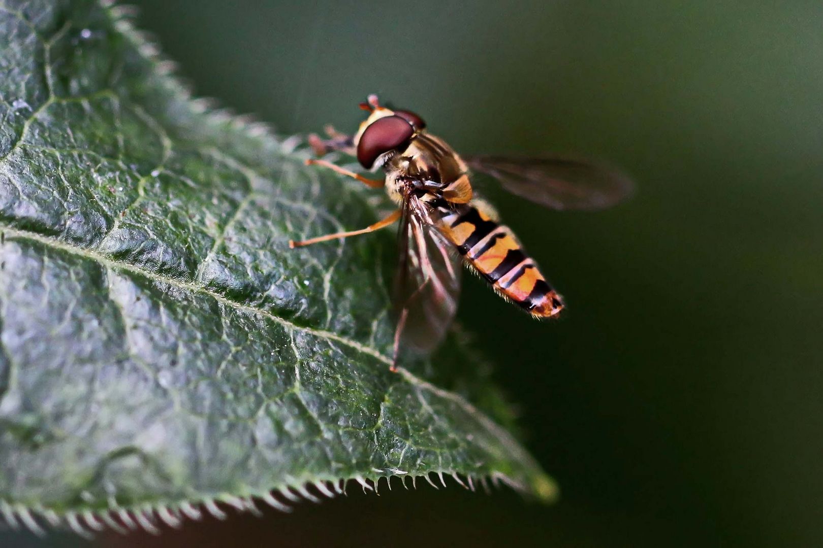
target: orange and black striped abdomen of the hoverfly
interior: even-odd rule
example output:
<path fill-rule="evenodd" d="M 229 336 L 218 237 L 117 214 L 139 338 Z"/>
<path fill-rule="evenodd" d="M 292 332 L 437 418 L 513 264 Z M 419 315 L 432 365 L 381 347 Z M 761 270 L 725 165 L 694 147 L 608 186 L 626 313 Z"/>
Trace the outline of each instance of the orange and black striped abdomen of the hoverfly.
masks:
<path fill-rule="evenodd" d="M 563 309 L 560 296 L 508 227 L 472 205 L 450 211 L 442 220 L 446 237 L 496 292 L 538 317 L 550 317 Z"/>

